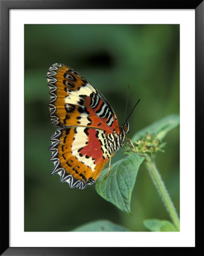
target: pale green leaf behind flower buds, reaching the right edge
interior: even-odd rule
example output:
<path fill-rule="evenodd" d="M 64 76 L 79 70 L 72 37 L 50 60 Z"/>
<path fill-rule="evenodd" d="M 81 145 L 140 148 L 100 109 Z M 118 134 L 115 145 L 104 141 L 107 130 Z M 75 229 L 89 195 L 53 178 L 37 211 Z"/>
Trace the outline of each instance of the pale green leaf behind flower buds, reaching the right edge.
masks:
<path fill-rule="evenodd" d="M 160 119 L 159 121 L 156 121 L 152 123 L 152 125 L 149 125 L 145 127 L 144 129 L 138 131 L 132 138 L 132 142 L 138 141 L 143 135 L 149 133 L 149 134 L 155 134 L 157 139 L 162 140 L 165 135 L 172 130 L 174 127 L 178 126 L 180 123 L 180 117 L 177 114 L 168 115 L 167 117 L 164 117 Z"/>

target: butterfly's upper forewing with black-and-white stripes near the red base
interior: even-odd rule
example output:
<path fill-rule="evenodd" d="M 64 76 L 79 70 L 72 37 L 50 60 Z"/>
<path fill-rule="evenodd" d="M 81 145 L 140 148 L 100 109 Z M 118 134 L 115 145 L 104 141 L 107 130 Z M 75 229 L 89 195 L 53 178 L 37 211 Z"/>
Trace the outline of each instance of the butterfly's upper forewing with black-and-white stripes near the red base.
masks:
<path fill-rule="evenodd" d="M 84 77 L 63 64 L 53 64 L 47 74 L 50 117 L 57 127 L 89 126 L 120 133 L 118 119 L 106 98 Z"/>

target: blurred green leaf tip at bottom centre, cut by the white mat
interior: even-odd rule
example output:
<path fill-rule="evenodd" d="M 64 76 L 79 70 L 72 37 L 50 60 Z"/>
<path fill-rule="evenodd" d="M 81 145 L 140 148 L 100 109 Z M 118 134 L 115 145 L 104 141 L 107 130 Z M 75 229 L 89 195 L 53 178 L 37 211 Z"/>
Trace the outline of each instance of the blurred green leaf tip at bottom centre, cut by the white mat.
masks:
<path fill-rule="evenodd" d="M 88 224 L 81 225 L 76 229 L 73 229 L 74 232 L 127 232 L 130 231 L 123 226 L 117 225 L 111 221 L 107 220 L 98 220 L 89 222 Z"/>

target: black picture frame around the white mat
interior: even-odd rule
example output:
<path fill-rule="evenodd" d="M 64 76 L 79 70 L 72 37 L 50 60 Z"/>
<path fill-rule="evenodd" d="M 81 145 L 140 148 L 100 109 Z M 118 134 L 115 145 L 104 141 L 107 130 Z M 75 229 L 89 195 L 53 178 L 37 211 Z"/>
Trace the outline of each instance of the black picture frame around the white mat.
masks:
<path fill-rule="evenodd" d="M 204 68 L 204 1 L 106 1 L 106 0 L 0 0 L 1 57 L 0 57 L 0 96 L 1 96 L 1 255 L 111 255 L 135 254 L 151 249 L 141 247 L 9 247 L 9 10 L 10 9 L 195 9 L 195 102 L 200 109 L 203 97 Z M 190 102 L 189 102 L 190 104 Z M 198 108 L 199 107 L 199 108 Z M 201 134 L 202 120 L 198 118 L 196 131 Z M 201 130 L 202 129 L 202 130 Z M 199 137 L 199 142 L 201 141 Z M 198 138 L 197 138 L 198 140 Z M 196 140 L 196 142 L 198 142 Z M 197 143 L 198 145 L 198 143 Z M 192 153 L 193 154 L 193 153 Z M 198 160 L 199 154 L 196 155 Z M 198 180 L 198 177 L 197 177 Z M 199 179 L 201 180 L 201 179 Z M 199 243 L 199 240 L 198 240 Z M 197 243 L 197 245 L 198 245 Z M 156 248 L 155 248 L 156 249 Z M 174 248 L 170 248 L 173 249 Z"/>

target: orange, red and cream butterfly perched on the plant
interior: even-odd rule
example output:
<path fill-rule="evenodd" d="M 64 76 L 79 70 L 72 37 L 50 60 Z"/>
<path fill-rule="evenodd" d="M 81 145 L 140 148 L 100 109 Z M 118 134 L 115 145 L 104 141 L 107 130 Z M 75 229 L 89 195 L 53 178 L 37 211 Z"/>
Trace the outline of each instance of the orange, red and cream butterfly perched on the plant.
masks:
<path fill-rule="evenodd" d="M 47 73 L 49 110 L 57 127 L 51 137 L 51 174 L 70 188 L 84 189 L 98 179 L 106 163 L 126 142 L 129 123 L 118 125 L 106 98 L 84 77 L 64 64 Z"/>

